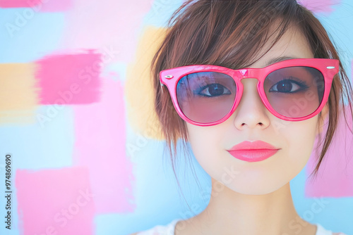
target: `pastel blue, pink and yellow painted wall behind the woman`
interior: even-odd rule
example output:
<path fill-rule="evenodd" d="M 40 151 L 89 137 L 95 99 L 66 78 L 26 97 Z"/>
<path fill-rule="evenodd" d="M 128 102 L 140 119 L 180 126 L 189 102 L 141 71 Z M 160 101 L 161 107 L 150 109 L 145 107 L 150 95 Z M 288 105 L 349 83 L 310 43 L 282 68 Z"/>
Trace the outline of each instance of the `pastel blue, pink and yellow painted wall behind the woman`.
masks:
<path fill-rule="evenodd" d="M 180 193 L 151 111 L 148 63 L 181 3 L 0 0 L 0 234 L 125 235 L 205 208 L 210 178 L 179 155 Z M 326 27 L 352 79 L 352 0 L 301 4 Z M 341 119 L 318 177 L 308 178 L 313 154 L 291 184 L 301 217 L 346 234 L 352 144 Z"/>

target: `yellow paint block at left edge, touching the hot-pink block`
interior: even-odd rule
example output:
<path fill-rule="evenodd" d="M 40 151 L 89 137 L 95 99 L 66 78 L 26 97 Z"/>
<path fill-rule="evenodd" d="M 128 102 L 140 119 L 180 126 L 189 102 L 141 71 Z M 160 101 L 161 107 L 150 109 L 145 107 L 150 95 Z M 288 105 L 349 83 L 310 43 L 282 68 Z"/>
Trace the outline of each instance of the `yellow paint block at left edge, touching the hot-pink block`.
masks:
<path fill-rule="evenodd" d="M 34 63 L 0 64 L 0 123 L 34 123 L 38 89 Z"/>

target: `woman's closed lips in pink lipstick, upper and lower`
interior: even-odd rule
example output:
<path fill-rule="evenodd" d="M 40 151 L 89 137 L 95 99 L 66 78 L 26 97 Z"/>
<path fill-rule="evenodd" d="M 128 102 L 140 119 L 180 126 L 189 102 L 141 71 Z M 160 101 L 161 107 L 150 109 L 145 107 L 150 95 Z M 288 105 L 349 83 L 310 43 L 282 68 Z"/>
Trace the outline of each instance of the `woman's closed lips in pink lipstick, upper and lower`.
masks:
<path fill-rule="evenodd" d="M 277 153 L 280 148 L 276 148 L 264 141 L 243 141 L 227 150 L 234 158 L 247 162 L 258 162 L 270 158 Z"/>

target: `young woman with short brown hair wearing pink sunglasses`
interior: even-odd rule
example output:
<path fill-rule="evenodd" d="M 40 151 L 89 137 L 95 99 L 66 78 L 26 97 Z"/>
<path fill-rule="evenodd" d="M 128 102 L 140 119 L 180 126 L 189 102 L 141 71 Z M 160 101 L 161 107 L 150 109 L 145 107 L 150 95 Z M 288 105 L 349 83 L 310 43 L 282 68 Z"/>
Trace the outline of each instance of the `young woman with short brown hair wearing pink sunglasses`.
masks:
<path fill-rule="evenodd" d="M 316 174 L 345 100 L 352 119 L 321 23 L 295 0 L 201 0 L 169 25 L 152 63 L 155 110 L 171 153 L 189 141 L 221 190 L 200 214 L 138 234 L 333 234 L 299 217 L 289 187 L 322 132 Z"/>

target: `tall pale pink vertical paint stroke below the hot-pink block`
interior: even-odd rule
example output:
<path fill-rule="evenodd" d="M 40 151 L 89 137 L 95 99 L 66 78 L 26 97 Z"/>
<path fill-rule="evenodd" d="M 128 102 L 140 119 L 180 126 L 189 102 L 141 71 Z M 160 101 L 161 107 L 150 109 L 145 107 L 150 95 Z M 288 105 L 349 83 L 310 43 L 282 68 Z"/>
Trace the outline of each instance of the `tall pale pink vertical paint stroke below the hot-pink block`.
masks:
<path fill-rule="evenodd" d="M 133 212 L 132 164 L 126 158 L 124 89 L 103 80 L 102 100 L 74 106 L 74 163 L 88 167 L 98 213 Z"/>

